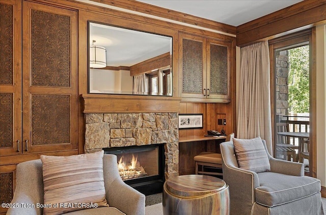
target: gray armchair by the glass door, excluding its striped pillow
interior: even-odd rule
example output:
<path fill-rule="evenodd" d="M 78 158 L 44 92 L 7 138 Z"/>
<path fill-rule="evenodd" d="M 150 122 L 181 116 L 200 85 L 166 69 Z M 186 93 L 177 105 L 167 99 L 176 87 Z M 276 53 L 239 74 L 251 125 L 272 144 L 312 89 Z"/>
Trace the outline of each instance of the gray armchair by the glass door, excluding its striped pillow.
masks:
<path fill-rule="evenodd" d="M 238 167 L 233 142 L 221 143 L 223 179 L 230 190 L 230 214 L 324 214 L 320 180 L 304 176 L 301 163 L 277 160 L 268 153 L 270 171 Z"/>

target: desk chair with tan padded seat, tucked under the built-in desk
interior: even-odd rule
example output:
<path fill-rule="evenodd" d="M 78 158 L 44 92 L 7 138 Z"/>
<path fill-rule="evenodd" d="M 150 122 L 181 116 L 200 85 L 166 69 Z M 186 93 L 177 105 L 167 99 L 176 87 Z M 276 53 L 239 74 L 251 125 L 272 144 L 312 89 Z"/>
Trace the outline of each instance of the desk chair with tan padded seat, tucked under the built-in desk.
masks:
<path fill-rule="evenodd" d="M 226 142 L 230 141 L 234 137 L 234 133 L 229 134 L 226 137 Z M 220 153 L 212 153 L 212 152 L 201 152 L 198 156 L 194 157 L 195 160 L 195 173 L 203 174 L 203 175 L 223 175 L 222 173 L 222 156 Z M 201 166 L 201 170 L 198 171 L 198 167 Z M 221 172 L 208 172 L 204 171 L 204 167 L 213 167 L 216 169 L 220 169 Z"/>

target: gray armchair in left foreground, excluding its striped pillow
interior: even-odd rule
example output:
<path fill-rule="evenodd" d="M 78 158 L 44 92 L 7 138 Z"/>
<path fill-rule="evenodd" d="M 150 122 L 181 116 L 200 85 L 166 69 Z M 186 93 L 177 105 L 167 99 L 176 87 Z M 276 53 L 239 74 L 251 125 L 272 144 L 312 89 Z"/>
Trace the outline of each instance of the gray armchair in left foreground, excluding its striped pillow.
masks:
<path fill-rule="evenodd" d="M 11 203 L 19 207 L 9 208 L 7 214 L 42 214 L 42 208 L 22 208 L 20 205 L 43 204 L 43 173 L 41 160 L 23 162 L 17 165 L 17 186 Z M 73 211 L 65 214 L 145 214 L 145 195 L 126 185 L 118 171 L 117 157 L 103 157 L 104 187 L 110 207 L 98 207 Z"/>

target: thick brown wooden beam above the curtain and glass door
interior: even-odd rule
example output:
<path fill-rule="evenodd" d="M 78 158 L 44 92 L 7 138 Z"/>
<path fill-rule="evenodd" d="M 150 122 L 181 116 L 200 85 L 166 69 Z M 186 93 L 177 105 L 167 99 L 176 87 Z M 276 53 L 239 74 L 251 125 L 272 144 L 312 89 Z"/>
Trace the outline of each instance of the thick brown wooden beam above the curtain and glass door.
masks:
<path fill-rule="evenodd" d="M 279 37 L 290 30 L 311 27 L 326 20 L 326 2 L 309 0 L 237 26 L 237 46 L 269 37 Z"/>

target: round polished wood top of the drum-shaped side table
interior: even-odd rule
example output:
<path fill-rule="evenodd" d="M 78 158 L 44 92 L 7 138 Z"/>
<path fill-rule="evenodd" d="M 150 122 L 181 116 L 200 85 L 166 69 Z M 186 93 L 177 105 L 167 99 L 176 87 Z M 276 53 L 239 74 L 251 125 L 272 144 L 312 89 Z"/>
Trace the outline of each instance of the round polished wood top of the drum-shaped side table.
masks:
<path fill-rule="evenodd" d="M 224 180 L 208 175 L 180 175 L 166 181 L 167 190 L 176 196 L 196 197 L 227 188 Z"/>

